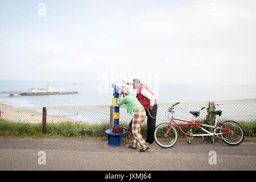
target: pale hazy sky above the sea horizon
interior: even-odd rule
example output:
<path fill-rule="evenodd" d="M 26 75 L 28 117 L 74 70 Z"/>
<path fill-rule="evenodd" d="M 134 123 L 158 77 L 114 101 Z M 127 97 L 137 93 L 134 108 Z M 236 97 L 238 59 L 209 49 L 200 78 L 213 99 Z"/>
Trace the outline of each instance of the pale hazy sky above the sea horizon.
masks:
<path fill-rule="evenodd" d="M 256 1 L 0 0 L 0 80 L 256 85 Z"/>

